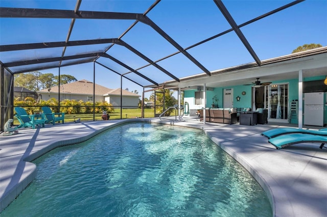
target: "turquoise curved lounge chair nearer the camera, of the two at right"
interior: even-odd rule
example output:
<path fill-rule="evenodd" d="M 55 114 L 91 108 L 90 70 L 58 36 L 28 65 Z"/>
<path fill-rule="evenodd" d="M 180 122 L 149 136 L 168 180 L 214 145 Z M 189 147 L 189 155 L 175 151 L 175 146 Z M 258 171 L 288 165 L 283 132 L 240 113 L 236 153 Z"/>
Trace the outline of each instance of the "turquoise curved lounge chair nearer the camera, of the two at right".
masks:
<path fill-rule="evenodd" d="M 268 140 L 276 149 L 282 149 L 287 146 L 298 143 L 321 143 L 320 149 L 327 143 L 327 137 L 313 134 L 292 133 L 279 135 L 279 137 L 271 138 Z"/>

